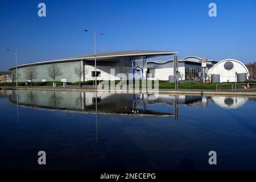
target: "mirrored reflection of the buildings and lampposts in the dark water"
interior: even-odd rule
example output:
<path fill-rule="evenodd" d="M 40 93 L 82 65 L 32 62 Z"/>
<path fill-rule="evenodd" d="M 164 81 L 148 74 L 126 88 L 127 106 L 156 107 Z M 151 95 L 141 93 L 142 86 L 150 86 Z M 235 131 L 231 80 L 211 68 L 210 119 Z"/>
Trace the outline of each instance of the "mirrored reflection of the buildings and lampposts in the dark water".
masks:
<path fill-rule="evenodd" d="M 184 96 L 174 94 L 125 94 L 97 92 L 60 92 L 0 90 L 1 97 L 8 97 L 16 105 L 17 122 L 19 106 L 35 109 L 63 110 L 95 114 L 96 142 L 98 137 L 98 114 L 122 117 L 174 117 L 179 119 L 179 107 L 207 107 L 216 104 L 223 109 L 236 109 L 246 103 L 246 97 Z M 255 99 L 254 99 L 255 100 Z M 173 107 L 173 113 L 159 111 L 151 105 L 166 104 Z M 150 108 L 150 109 L 148 109 Z"/>

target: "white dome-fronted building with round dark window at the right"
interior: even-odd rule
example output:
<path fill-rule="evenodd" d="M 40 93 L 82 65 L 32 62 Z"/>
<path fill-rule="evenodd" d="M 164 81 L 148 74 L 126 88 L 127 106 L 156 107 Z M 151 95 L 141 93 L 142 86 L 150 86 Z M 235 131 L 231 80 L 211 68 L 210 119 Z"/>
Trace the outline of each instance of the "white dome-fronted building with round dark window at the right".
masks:
<path fill-rule="evenodd" d="M 219 81 L 213 81 L 213 75 L 214 77 L 217 76 Z M 212 82 L 245 81 L 249 76 L 247 67 L 240 61 L 234 59 L 222 60 L 210 68 L 208 72 L 208 77 L 211 78 Z"/>

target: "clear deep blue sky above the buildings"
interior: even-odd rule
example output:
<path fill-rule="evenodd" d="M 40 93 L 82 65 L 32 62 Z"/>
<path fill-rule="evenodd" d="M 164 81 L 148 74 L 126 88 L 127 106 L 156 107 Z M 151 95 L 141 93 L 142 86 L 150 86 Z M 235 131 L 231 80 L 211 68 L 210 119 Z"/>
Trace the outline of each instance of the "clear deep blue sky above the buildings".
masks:
<path fill-rule="evenodd" d="M 47 16 L 39 18 L 38 3 Z M 208 16 L 210 2 L 217 17 Z M 93 52 L 93 36 L 103 32 L 97 52 L 177 51 L 209 59 L 256 61 L 256 1 L 0 1 L 0 70 L 15 64 L 52 60 Z"/>

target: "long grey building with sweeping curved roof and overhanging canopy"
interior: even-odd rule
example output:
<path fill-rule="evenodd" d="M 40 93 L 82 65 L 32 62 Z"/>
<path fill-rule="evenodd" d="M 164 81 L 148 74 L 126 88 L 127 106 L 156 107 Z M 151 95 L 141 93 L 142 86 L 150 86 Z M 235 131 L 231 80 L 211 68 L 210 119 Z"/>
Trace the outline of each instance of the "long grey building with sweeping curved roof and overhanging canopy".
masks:
<path fill-rule="evenodd" d="M 170 56 L 177 52 L 172 51 L 117 51 L 105 52 L 97 54 L 97 80 L 119 80 L 118 67 L 122 67 L 122 72 L 129 78 L 130 75 L 138 75 L 136 78 L 144 79 L 147 75 L 147 59 L 160 56 Z M 119 64 L 122 63 L 122 64 Z M 67 82 L 79 81 L 74 72 L 78 65 L 82 65 L 85 73 L 81 77 L 82 81 L 93 80 L 95 77 L 94 55 L 82 55 L 77 57 L 69 57 L 65 59 L 43 61 L 37 63 L 18 65 L 18 73 L 20 74 L 18 81 L 28 81 L 24 71 L 26 68 L 35 65 L 37 77 L 33 81 L 52 81 L 48 76 L 48 68 L 51 64 L 57 64 L 63 72 L 63 75 L 56 81 L 66 79 Z M 10 68 L 10 71 L 15 67 Z M 115 69 L 114 74 L 110 74 L 111 69 Z M 137 73 L 137 74 L 135 74 Z"/>

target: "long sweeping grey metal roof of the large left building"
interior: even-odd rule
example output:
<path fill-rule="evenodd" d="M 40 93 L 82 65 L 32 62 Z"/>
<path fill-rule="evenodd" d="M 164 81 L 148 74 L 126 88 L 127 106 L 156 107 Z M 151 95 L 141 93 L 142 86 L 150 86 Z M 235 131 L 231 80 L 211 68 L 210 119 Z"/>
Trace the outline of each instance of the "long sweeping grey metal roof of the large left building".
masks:
<path fill-rule="evenodd" d="M 139 59 L 143 59 L 144 57 L 152 58 L 152 57 L 160 57 L 160 56 L 170 56 L 176 53 L 177 52 L 173 52 L 173 51 L 114 51 L 114 52 L 97 53 L 96 57 L 97 57 L 97 61 L 118 61 L 122 57 L 127 60 L 130 60 L 130 59 L 139 60 Z M 23 64 L 23 65 L 18 65 L 18 68 L 27 67 L 29 65 L 64 63 L 64 62 L 80 61 L 80 60 L 93 61 L 94 55 L 93 54 L 81 55 L 81 56 L 75 56 L 75 57 L 67 57 L 64 59 Z M 15 67 L 11 67 L 10 69 L 13 69 L 13 68 Z"/>

